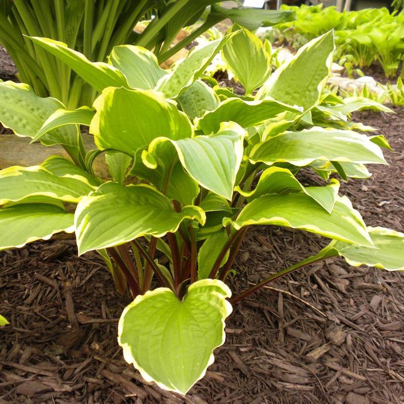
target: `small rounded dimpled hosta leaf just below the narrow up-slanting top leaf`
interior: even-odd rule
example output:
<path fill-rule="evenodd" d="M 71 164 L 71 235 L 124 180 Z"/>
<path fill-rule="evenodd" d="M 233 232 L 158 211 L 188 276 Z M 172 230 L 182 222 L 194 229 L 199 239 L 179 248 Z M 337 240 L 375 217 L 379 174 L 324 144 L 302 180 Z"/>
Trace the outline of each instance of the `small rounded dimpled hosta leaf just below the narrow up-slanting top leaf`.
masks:
<path fill-rule="evenodd" d="M 201 117 L 219 105 L 218 97 L 211 87 L 201 80 L 194 81 L 177 99 L 182 111 L 189 118 Z"/>

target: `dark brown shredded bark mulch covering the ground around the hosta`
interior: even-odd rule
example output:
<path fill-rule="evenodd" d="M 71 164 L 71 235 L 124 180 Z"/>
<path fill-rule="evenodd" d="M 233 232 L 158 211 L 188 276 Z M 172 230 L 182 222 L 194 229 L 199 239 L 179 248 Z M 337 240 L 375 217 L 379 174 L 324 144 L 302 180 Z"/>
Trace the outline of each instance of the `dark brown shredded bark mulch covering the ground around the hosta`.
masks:
<path fill-rule="evenodd" d="M 390 166 L 341 186 L 369 225 L 404 231 L 404 109 L 355 119 L 390 140 Z M 302 181 L 313 181 L 302 173 Z M 315 179 L 320 182 L 318 178 Z M 230 279 L 237 294 L 316 252 L 318 236 L 250 229 Z M 74 240 L 0 254 L 0 403 L 402 404 L 404 277 L 343 260 L 284 277 L 234 308 L 226 342 L 185 397 L 144 382 L 122 359 L 116 294 L 95 253 Z"/>

